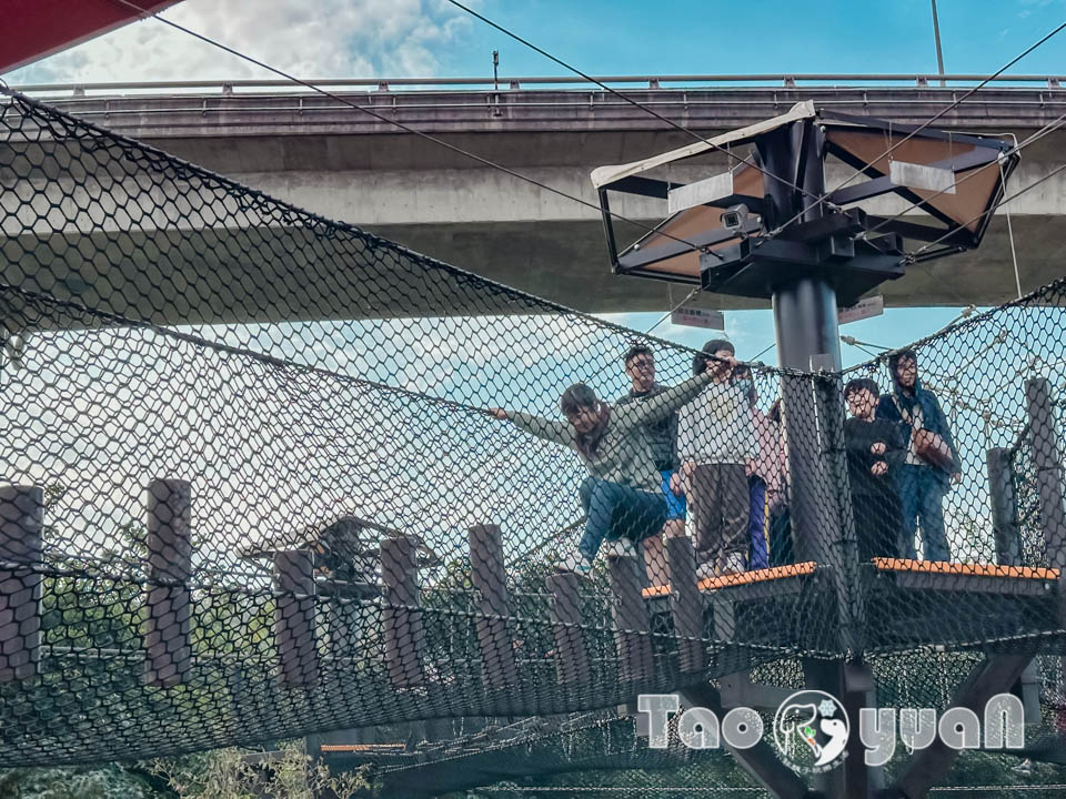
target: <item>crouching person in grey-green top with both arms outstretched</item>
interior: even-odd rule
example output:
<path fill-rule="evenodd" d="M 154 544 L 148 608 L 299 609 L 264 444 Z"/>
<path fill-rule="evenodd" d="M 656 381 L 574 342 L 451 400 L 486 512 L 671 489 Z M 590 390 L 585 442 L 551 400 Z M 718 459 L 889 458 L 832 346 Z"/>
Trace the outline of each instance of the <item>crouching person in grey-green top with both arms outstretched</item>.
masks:
<path fill-rule="evenodd" d="M 526 433 L 575 449 L 589 469 L 579 490 L 587 516 L 585 530 L 576 552 L 559 560 L 556 568 L 587 575 L 604 540 L 611 544 L 611 555 L 625 555 L 634 543 L 658 534 L 667 508 L 646 426 L 676 413 L 710 381 L 710 374 L 697 374 L 660 394 L 614 407 L 584 383 L 576 383 L 560 398 L 565 422 L 489 409 L 497 419 L 510 419 Z"/>

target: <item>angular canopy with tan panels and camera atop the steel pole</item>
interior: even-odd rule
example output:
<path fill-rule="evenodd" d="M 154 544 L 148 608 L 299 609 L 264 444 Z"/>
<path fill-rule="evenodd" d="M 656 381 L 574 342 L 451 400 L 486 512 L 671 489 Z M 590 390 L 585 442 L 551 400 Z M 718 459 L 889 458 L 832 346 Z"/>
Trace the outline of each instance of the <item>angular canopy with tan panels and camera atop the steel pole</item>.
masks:
<path fill-rule="evenodd" d="M 737 161 L 722 172 L 721 153 Z M 708 156 L 716 163 L 708 163 Z M 867 180 L 826 192 L 832 156 Z M 841 305 L 903 276 L 906 263 L 976 247 L 1018 155 L 1002 139 L 816 109 L 787 113 L 642 161 L 600 166 L 611 263 L 617 274 L 768 299 L 804 275 L 829 281 Z M 704 176 L 708 171 L 716 172 Z M 685 180 L 681 180 L 685 179 Z M 666 216 L 619 251 L 609 192 L 636 195 L 625 215 Z M 879 214 L 858 203 L 882 195 Z M 645 210 L 650 212 L 645 212 Z M 908 213 L 897 213 L 907 210 Z M 904 241 L 925 242 L 908 257 Z"/>

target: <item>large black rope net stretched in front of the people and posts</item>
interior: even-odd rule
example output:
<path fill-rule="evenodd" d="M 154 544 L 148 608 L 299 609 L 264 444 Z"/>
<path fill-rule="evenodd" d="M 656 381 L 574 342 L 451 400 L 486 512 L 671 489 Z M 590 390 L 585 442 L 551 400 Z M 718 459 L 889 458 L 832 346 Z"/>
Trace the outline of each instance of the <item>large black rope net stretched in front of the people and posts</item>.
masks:
<path fill-rule="evenodd" d="M 9 765 L 1059 651 L 1066 285 L 737 365 L 19 94 L 0 236 Z"/>

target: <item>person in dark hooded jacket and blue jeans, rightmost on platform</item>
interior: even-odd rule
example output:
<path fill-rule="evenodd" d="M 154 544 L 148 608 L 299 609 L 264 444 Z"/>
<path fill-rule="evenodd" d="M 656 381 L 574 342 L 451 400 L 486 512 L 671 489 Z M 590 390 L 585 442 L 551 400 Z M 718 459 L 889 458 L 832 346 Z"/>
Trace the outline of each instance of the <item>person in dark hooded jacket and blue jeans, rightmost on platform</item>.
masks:
<path fill-rule="evenodd" d="M 926 560 L 948 560 L 944 534 L 944 496 L 958 479 L 958 452 L 936 395 L 922 387 L 918 356 L 903 350 L 888 358 L 893 392 L 881 397 L 877 415 L 901 425 L 907 452 L 899 473 L 904 554 L 916 558 L 915 534 L 922 528 Z"/>

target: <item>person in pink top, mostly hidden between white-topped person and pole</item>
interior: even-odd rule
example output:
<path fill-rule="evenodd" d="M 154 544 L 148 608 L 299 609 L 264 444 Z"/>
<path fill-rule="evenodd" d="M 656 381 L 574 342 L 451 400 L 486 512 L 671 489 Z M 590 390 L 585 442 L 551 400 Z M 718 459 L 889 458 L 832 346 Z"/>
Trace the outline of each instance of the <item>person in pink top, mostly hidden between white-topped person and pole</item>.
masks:
<path fill-rule="evenodd" d="M 770 502 L 781 490 L 781 435 L 776 425 L 758 409 L 758 393 L 752 370 L 746 365 L 733 371 L 733 383 L 747 400 L 752 408 L 752 424 L 755 427 L 757 453 L 747 458 L 748 493 L 748 569 L 770 567 Z"/>

